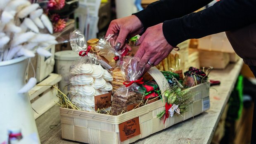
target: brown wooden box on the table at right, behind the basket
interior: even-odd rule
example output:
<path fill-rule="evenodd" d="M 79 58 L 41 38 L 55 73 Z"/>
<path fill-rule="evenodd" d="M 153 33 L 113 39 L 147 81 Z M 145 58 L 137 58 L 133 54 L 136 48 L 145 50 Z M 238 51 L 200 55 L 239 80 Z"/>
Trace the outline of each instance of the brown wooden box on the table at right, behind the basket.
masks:
<path fill-rule="evenodd" d="M 229 58 L 229 53 L 199 50 L 199 61 L 201 67 L 224 69 L 229 63 Z"/>

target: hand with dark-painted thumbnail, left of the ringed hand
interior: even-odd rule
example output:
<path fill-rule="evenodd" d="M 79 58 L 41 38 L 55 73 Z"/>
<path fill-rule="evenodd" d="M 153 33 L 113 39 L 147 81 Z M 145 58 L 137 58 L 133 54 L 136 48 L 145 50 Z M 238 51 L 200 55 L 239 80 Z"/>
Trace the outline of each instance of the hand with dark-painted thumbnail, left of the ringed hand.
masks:
<path fill-rule="evenodd" d="M 133 37 L 143 32 L 143 25 L 135 15 L 111 21 L 106 36 L 118 33 L 115 49 L 119 50 L 126 44 L 126 37 Z M 128 45 L 128 44 L 127 44 Z M 126 47 L 131 51 L 130 46 Z"/>

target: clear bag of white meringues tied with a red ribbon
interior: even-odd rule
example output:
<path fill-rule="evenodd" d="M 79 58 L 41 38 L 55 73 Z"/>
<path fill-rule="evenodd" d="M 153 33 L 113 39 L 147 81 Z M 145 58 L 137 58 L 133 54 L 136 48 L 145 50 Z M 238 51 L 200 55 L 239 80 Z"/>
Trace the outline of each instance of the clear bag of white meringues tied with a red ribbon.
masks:
<path fill-rule="evenodd" d="M 113 89 L 109 67 L 87 46 L 81 31 L 75 30 L 70 34 L 70 43 L 73 51 L 81 58 L 69 69 L 69 99 L 85 111 L 108 109 Z"/>

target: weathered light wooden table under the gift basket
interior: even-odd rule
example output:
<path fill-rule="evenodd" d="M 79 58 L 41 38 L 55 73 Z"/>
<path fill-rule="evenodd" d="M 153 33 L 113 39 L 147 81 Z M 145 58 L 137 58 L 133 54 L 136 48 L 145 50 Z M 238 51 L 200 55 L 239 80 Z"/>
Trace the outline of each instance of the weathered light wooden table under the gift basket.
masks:
<path fill-rule="evenodd" d="M 230 94 L 235 86 L 243 61 L 229 64 L 225 70 L 213 70 L 210 79 L 220 80 L 220 86 L 210 89 L 211 108 L 170 128 L 156 132 L 136 144 L 210 144 Z M 62 139 L 59 107 L 54 106 L 36 119 L 42 144 L 80 144 Z"/>

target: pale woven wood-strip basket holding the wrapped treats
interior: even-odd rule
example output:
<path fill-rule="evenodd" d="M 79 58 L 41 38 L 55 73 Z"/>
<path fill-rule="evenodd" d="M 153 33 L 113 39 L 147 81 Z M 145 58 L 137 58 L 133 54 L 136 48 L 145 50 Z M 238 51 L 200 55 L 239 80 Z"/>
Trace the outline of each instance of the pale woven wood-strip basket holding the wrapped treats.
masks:
<path fill-rule="evenodd" d="M 149 74 L 152 77 L 157 75 L 155 71 L 153 73 L 149 72 Z M 155 80 L 157 83 L 163 81 L 160 78 Z M 164 85 L 159 86 L 159 88 L 163 90 Z M 189 90 L 193 95 L 193 102 L 188 106 L 187 111 L 181 115 L 175 114 L 172 118 L 169 117 L 165 123 L 164 118 L 159 120 L 156 117 L 160 111 L 165 109 L 165 102 L 161 100 L 118 116 L 60 108 L 62 138 L 90 144 L 128 144 L 135 142 L 210 108 L 209 82 L 199 84 L 189 88 Z M 139 120 L 140 135 L 121 142 L 120 132 L 123 129 L 119 129 L 119 124 L 136 118 Z"/>

